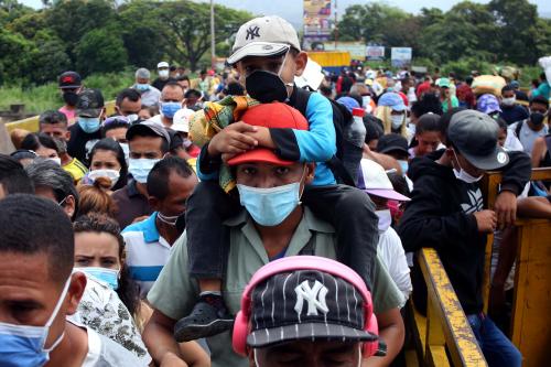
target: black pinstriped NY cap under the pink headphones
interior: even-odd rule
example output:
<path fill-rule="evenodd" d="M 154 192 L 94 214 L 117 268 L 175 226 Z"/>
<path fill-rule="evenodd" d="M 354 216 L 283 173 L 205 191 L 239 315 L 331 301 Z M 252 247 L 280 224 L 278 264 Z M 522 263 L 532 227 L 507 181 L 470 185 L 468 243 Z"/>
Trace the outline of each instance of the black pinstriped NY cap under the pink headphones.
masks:
<path fill-rule="evenodd" d="M 370 342 L 364 299 L 342 278 L 317 270 L 279 273 L 251 293 L 247 344 L 266 347 L 298 339 Z"/>

